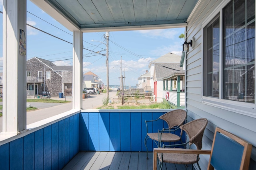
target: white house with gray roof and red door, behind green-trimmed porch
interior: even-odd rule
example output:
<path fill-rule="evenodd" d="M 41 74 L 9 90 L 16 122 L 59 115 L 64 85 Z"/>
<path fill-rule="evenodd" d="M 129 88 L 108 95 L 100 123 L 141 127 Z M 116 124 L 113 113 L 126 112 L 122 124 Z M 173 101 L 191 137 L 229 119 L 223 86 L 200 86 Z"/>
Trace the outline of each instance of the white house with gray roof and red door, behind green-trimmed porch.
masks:
<path fill-rule="evenodd" d="M 180 67 L 181 56 L 174 53 L 167 53 L 158 59 L 151 61 L 148 65 L 150 69 L 150 86 L 154 91 L 156 102 L 162 102 L 163 98 L 163 80 L 162 78 L 170 76 L 174 72 L 182 71 Z"/>

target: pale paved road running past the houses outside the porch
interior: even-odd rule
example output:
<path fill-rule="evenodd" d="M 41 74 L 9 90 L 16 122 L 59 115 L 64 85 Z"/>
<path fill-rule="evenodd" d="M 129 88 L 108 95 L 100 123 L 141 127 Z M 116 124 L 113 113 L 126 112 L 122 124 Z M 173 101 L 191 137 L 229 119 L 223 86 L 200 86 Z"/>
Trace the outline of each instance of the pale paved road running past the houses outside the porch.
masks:
<path fill-rule="evenodd" d="M 83 99 L 82 106 L 84 109 L 96 109 L 103 105 L 103 100 L 106 98 L 106 94 L 92 94 L 89 98 Z M 116 90 L 109 92 L 109 98 L 111 101 L 117 100 Z M 56 100 L 65 100 L 65 98 L 54 98 Z M 39 102 L 31 102 L 30 106 L 37 107 L 38 110 L 28 111 L 27 112 L 27 125 L 30 123 L 34 123 L 36 121 L 40 121 L 42 119 L 46 119 L 48 117 L 52 117 L 54 115 L 58 115 L 65 111 L 72 109 L 72 98 L 67 97 L 66 100 L 71 101 L 70 103 L 39 103 Z M 0 105 L 2 105 L 0 103 Z M 0 117 L 0 132 L 2 132 L 2 117 Z"/>

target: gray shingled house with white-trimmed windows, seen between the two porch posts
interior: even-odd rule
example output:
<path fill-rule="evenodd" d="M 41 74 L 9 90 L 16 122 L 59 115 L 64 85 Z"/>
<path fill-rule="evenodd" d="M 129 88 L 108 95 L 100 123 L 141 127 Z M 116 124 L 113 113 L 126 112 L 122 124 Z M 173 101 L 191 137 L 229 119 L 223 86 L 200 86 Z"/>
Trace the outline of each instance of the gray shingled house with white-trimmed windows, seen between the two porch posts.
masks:
<path fill-rule="evenodd" d="M 27 96 L 72 96 L 72 66 L 34 57 L 27 61 Z"/>

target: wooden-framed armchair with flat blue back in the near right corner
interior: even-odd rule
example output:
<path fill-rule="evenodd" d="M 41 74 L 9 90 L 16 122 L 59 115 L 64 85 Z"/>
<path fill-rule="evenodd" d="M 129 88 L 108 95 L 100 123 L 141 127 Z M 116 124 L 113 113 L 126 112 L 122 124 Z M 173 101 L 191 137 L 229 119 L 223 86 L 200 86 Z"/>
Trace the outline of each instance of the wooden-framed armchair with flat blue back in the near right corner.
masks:
<path fill-rule="evenodd" d="M 210 154 L 207 170 L 248 170 L 252 144 L 244 139 L 216 127 L 211 150 L 154 148 L 153 170 L 157 169 L 158 153 Z"/>

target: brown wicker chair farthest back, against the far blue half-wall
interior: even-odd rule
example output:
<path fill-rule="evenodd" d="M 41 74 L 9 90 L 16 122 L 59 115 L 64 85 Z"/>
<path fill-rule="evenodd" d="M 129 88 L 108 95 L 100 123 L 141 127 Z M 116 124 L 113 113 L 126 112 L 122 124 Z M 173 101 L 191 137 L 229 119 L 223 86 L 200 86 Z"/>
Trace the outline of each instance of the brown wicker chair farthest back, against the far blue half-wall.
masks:
<path fill-rule="evenodd" d="M 175 109 L 172 111 L 169 111 L 165 113 L 164 115 L 161 115 L 156 120 L 150 120 L 145 121 L 146 123 L 146 129 L 147 129 L 147 135 L 144 140 L 145 147 L 147 149 L 147 159 L 148 159 L 148 147 L 147 147 L 147 141 L 148 139 L 152 139 L 157 147 L 161 147 L 162 142 L 176 142 L 181 141 L 181 136 L 175 135 L 173 132 L 180 129 L 180 125 L 182 125 L 186 119 L 187 113 L 183 109 Z M 166 121 L 168 124 L 167 129 L 162 129 L 162 131 L 159 131 L 157 133 L 148 133 L 148 122 L 157 121 L 159 119 L 162 119 Z"/>

